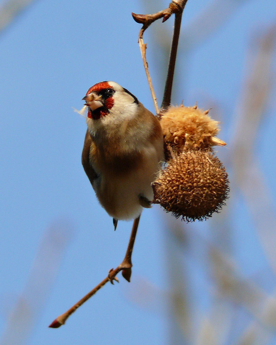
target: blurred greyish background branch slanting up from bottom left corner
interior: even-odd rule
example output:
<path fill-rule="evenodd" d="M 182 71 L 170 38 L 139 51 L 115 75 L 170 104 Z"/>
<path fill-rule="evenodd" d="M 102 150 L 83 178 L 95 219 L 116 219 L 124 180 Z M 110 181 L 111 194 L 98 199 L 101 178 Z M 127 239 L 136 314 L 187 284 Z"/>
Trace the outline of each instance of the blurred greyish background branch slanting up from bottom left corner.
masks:
<path fill-rule="evenodd" d="M 45 231 L 26 286 L 9 312 L 1 345 L 27 344 L 59 273 L 72 231 L 72 225 L 64 221 L 53 223 Z"/>

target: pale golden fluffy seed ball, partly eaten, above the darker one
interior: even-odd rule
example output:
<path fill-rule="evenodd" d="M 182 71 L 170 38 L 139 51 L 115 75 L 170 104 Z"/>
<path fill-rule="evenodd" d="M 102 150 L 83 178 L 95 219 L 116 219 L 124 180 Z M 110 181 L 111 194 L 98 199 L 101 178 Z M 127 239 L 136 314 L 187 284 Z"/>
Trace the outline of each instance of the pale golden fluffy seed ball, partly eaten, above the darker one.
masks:
<path fill-rule="evenodd" d="M 208 116 L 208 110 L 199 109 L 196 105 L 171 106 L 160 119 L 164 140 L 175 154 L 183 150 L 210 150 L 213 145 L 226 145 L 215 136 L 218 121 Z"/>

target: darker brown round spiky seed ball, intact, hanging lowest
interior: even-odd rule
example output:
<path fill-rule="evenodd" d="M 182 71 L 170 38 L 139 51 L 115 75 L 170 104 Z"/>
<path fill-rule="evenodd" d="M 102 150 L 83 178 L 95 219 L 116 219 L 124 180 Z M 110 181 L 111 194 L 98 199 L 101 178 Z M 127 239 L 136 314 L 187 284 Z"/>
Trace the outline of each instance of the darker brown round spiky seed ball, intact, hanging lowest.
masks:
<path fill-rule="evenodd" d="M 187 151 L 171 159 L 152 184 L 154 202 L 189 222 L 218 212 L 228 197 L 228 175 L 209 151 Z"/>

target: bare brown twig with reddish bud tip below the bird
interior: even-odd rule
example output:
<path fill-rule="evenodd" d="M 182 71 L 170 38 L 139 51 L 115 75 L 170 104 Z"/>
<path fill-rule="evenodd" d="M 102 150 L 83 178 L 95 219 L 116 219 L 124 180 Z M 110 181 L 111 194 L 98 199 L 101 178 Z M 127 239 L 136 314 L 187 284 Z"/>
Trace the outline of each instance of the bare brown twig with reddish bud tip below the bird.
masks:
<path fill-rule="evenodd" d="M 124 260 L 121 262 L 121 264 L 115 268 L 115 270 L 111 269 L 108 273 L 108 276 L 104 278 L 97 286 L 94 287 L 90 292 L 88 292 L 87 295 L 85 295 L 82 299 L 80 299 L 77 303 L 75 303 L 68 311 L 65 313 L 59 315 L 50 325 L 50 328 L 59 328 L 60 326 L 64 325 L 66 320 L 69 318 L 69 316 L 76 311 L 81 305 L 83 305 L 90 297 L 96 294 L 97 291 L 99 291 L 108 281 L 110 281 L 113 284 L 113 280 L 116 280 L 119 282 L 119 279 L 116 277 L 117 274 L 122 271 L 122 276 L 130 282 L 131 273 L 132 273 L 132 252 L 134 247 L 134 242 L 136 239 L 138 224 L 139 224 L 140 216 L 136 218 L 133 222 L 133 227 L 131 231 L 131 236 L 128 244 L 128 248 L 126 251 L 126 255 L 124 257 Z"/>

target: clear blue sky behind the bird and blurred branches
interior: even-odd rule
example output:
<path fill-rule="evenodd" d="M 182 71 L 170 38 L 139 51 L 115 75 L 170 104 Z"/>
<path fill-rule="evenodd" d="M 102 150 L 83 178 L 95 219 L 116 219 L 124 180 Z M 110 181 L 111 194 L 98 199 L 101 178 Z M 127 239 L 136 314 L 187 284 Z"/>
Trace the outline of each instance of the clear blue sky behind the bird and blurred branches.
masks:
<path fill-rule="evenodd" d="M 210 3 L 187 2 L 183 33 Z M 231 141 L 249 42 L 276 19 L 275 1 L 232 3 L 237 9 L 230 18 L 188 56 L 185 40 L 180 40 L 173 96 L 174 104 L 182 99 L 186 105 L 197 101 L 204 108 L 214 104 L 211 116 L 222 122 L 219 137 L 226 142 Z M 167 2 L 151 1 L 150 5 L 158 11 Z M 131 223 L 120 222 L 114 233 L 112 220 L 98 204 L 80 162 L 85 119 L 73 108 L 82 107 L 81 99 L 90 86 L 113 80 L 154 111 L 137 43 L 140 26 L 131 16 L 131 12 L 145 11 L 141 1 L 38 0 L 0 33 L 1 332 L 17 297 L 26 290 L 32 294 L 27 288 L 28 277 L 46 229 L 60 229 L 57 224 L 65 224 L 62 227 L 67 229 L 53 232 L 64 239 L 63 255 L 57 256 L 56 279 L 49 283 L 44 302 L 37 307 L 26 344 L 167 344 L 169 326 L 163 307 L 155 311 L 140 308 L 135 298 L 129 297 L 134 283 L 129 285 L 121 277 L 120 284 L 106 285 L 65 326 L 47 328 L 124 256 Z M 164 25 L 171 33 L 173 19 Z M 156 47 L 153 32 L 148 29 L 144 39 L 160 104 L 161 69 L 167 57 Z M 255 148 L 274 202 L 275 105 L 271 97 Z M 227 157 L 227 150 L 219 150 L 221 159 Z M 246 206 L 241 198 L 238 202 L 231 225 L 235 241 L 242 241 L 246 250 L 242 252 L 237 245 L 234 251 L 243 273 L 249 275 L 261 269 L 265 259 L 254 240 Z M 143 277 L 159 291 L 168 287 L 163 216 L 157 206 L 143 211 L 133 257 L 133 282 Z M 209 237 L 207 222 L 188 229 L 194 227 Z M 45 255 L 49 265 L 51 254 Z M 197 275 L 195 271 L 194 279 Z"/>

